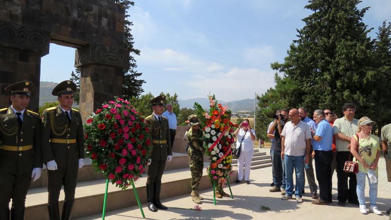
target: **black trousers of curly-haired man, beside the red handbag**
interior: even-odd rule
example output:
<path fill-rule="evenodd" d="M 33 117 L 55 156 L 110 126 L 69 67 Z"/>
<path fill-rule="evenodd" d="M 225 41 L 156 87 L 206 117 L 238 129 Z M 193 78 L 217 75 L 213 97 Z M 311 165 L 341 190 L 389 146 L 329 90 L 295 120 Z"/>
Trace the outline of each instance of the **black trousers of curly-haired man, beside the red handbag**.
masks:
<path fill-rule="evenodd" d="M 347 173 L 344 171 L 345 161 L 349 159 L 350 152 L 340 151 L 337 152 L 337 178 L 338 178 L 338 201 L 345 202 L 347 199 L 349 202 L 357 201 L 357 179 L 355 173 Z M 353 155 L 350 155 L 350 160 L 353 159 Z M 349 187 L 348 187 L 349 178 Z"/>

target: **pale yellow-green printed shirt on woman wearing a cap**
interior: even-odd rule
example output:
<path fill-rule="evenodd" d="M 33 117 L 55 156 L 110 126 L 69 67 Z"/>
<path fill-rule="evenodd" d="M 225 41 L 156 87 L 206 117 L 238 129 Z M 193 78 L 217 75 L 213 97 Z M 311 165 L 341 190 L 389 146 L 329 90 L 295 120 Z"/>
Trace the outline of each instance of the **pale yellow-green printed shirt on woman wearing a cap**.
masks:
<path fill-rule="evenodd" d="M 356 135 L 353 135 L 353 138 L 357 140 Z M 368 165 L 372 164 L 376 159 L 377 151 L 380 151 L 379 138 L 376 135 L 370 134 L 366 138 L 360 138 L 358 142 L 360 144 L 360 147 L 357 149 L 358 154 Z M 356 158 L 354 160 L 358 161 Z M 364 168 L 360 162 L 358 162 L 358 170 L 367 173 L 367 168 Z M 378 167 L 376 167 L 376 173 L 377 170 Z"/>

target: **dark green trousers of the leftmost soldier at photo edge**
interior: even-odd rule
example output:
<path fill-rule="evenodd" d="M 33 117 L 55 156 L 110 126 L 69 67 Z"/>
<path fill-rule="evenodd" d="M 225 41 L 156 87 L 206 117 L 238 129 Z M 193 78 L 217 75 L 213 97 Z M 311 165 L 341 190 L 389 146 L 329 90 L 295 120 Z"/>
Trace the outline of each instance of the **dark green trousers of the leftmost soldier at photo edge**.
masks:
<path fill-rule="evenodd" d="M 31 173 L 0 173 L 0 210 L 8 210 L 11 198 L 12 208 L 24 208 L 30 183 Z"/>

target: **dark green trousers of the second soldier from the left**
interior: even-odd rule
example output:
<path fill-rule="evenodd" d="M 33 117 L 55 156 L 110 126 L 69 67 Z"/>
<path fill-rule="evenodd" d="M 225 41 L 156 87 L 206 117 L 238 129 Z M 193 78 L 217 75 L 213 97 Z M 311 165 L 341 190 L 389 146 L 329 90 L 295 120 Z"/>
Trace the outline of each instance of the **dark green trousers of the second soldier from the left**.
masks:
<path fill-rule="evenodd" d="M 64 185 L 64 201 L 75 200 L 78 164 L 59 167 L 57 170 L 47 171 L 48 204 L 57 205 L 61 187 Z"/>

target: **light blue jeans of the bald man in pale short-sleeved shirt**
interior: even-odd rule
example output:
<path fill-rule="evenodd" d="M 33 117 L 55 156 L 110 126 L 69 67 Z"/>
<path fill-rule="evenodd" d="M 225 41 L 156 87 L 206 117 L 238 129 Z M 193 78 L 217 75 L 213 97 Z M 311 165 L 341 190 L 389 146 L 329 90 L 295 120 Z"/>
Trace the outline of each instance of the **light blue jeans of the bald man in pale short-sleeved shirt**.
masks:
<path fill-rule="evenodd" d="M 285 157 L 285 183 L 286 183 L 286 196 L 293 195 L 293 168 L 296 173 L 296 191 L 295 197 L 303 196 L 304 186 L 304 155 L 303 156 L 289 156 Z"/>

